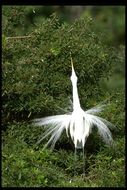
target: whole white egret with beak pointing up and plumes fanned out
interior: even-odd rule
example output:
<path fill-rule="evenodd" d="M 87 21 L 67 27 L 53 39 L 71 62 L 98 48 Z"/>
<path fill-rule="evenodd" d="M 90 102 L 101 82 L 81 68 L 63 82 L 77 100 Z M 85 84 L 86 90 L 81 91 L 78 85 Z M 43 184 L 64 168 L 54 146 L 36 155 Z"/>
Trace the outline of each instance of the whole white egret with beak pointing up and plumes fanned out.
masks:
<path fill-rule="evenodd" d="M 77 89 L 77 76 L 75 74 L 73 61 L 71 57 L 72 66 L 72 90 L 73 90 L 73 111 L 63 115 L 54 115 L 44 118 L 34 119 L 34 125 L 45 126 L 46 131 L 43 133 L 42 138 L 37 143 L 40 143 L 47 136 L 51 135 L 50 139 L 44 146 L 47 147 L 51 144 L 53 148 L 55 143 L 60 138 L 64 129 L 66 130 L 67 137 L 71 137 L 75 150 L 83 149 L 89 134 L 93 127 L 97 127 L 100 136 L 107 144 L 111 144 L 113 139 L 110 130 L 107 126 L 114 126 L 107 120 L 96 116 L 94 114 L 103 110 L 105 105 L 98 105 L 87 111 L 84 111 L 80 106 L 78 89 Z"/>

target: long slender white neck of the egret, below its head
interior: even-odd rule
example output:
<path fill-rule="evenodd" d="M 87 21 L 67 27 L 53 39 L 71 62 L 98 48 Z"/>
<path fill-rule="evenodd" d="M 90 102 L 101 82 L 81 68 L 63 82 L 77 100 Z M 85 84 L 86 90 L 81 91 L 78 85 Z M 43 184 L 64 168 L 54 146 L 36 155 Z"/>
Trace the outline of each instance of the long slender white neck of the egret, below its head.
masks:
<path fill-rule="evenodd" d="M 78 96 L 77 82 L 72 83 L 73 88 L 73 109 L 76 110 L 80 108 L 80 101 Z"/>

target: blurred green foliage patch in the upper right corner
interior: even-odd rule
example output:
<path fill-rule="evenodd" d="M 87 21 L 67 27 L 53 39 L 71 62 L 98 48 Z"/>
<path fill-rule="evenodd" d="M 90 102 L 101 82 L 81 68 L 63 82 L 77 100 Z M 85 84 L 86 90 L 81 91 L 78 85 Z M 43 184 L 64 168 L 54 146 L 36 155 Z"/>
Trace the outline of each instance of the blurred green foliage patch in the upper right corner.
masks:
<path fill-rule="evenodd" d="M 93 26 L 104 43 L 119 46 L 125 43 L 125 6 L 91 6 L 83 16 L 95 19 Z"/>

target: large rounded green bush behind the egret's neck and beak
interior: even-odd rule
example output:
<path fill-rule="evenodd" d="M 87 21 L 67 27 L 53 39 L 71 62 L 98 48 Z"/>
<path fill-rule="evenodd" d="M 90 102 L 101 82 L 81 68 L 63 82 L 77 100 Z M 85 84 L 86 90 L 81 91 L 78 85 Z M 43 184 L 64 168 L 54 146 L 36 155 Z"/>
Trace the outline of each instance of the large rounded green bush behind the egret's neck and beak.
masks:
<path fill-rule="evenodd" d="M 99 81 L 108 77 L 116 55 L 101 43 L 91 26 L 91 19 L 60 25 L 52 16 L 43 20 L 29 38 L 8 38 L 8 32 L 4 31 L 2 97 L 5 121 L 39 113 L 51 115 L 57 107 L 66 107 L 68 96 L 71 96 L 70 52 L 79 78 L 82 105 L 87 107 L 86 102 L 93 97 L 94 101 L 100 100 Z"/>

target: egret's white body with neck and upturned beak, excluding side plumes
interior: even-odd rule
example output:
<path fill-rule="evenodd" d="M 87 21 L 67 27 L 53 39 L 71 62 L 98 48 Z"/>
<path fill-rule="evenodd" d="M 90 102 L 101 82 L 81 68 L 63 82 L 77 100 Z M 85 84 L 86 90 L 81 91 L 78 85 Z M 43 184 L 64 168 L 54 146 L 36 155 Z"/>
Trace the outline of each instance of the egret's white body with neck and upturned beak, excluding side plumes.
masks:
<path fill-rule="evenodd" d="M 89 133 L 88 127 L 85 126 L 85 112 L 82 110 L 80 106 L 80 100 L 78 96 L 77 89 L 77 76 L 75 74 L 73 61 L 71 58 L 72 65 L 72 91 L 73 91 L 73 112 L 72 112 L 72 120 L 70 125 L 70 135 L 74 142 L 75 148 L 80 149 L 84 147 L 85 139 Z"/>

